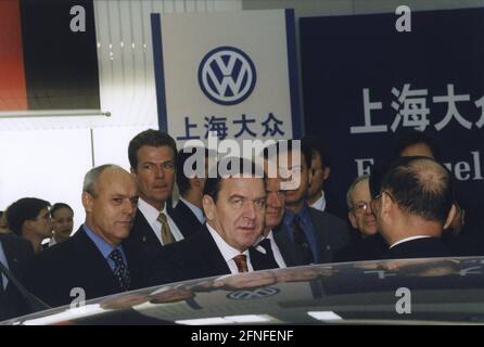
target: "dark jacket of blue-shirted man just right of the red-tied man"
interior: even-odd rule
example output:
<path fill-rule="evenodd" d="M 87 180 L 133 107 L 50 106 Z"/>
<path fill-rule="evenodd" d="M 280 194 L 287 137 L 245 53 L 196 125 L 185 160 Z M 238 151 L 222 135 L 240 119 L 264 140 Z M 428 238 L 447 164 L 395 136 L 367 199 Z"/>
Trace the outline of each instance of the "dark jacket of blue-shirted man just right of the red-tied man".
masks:
<path fill-rule="evenodd" d="M 334 255 L 349 243 L 347 223 L 331 214 L 308 208 L 319 253 L 315 262 L 331 262 Z M 289 239 L 283 222 L 273 230 L 273 237 L 288 267 L 304 265 L 303 255 Z"/>

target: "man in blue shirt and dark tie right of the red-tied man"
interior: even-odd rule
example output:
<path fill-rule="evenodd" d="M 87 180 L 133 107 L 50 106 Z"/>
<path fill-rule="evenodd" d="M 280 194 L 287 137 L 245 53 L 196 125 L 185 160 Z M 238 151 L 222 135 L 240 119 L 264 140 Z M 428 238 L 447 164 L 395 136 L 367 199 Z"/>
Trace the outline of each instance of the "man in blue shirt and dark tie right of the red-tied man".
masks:
<path fill-rule="evenodd" d="M 275 231 L 276 242 L 288 266 L 331 262 L 349 242 L 349 230 L 342 219 L 307 205 L 313 179 L 311 152 L 304 142 L 292 140 L 277 145 L 279 170 L 285 183 L 283 222 Z"/>

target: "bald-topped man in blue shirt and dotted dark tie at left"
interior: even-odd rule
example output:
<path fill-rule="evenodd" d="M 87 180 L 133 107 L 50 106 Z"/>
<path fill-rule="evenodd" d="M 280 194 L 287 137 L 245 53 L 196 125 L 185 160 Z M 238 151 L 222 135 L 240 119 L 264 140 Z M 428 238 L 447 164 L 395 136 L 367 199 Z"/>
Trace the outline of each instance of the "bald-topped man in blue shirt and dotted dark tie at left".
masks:
<path fill-rule="evenodd" d="M 82 190 L 86 222 L 69 240 L 38 255 L 28 271 L 28 288 L 51 306 L 143 284 L 131 249 L 122 244 L 137 208 L 132 176 L 120 167 L 103 165 L 86 175 Z"/>

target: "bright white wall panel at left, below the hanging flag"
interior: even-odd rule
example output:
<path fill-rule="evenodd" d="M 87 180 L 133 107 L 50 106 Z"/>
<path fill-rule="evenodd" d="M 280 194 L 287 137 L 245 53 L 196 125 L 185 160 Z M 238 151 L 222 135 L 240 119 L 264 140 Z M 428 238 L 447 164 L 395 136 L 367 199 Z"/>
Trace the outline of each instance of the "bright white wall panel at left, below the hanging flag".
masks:
<path fill-rule="evenodd" d="M 92 167 L 88 129 L 0 132 L 0 209 L 21 197 L 65 202 L 85 219 L 82 180 Z"/>

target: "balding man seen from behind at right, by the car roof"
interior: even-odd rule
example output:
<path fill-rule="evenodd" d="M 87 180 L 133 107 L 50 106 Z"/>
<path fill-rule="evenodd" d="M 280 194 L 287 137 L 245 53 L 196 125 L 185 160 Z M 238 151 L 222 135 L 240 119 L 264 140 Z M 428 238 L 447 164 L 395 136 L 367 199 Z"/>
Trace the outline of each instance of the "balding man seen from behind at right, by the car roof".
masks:
<path fill-rule="evenodd" d="M 390 245 L 384 258 L 451 255 L 441 236 L 456 211 L 453 185 L 449 170 L 429 157 L 402 157 L 390 166 L 372 201 Z"/>

